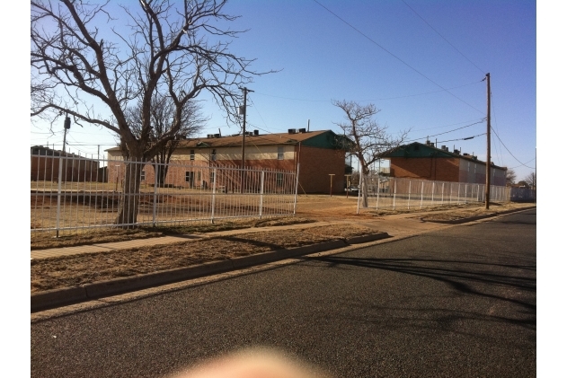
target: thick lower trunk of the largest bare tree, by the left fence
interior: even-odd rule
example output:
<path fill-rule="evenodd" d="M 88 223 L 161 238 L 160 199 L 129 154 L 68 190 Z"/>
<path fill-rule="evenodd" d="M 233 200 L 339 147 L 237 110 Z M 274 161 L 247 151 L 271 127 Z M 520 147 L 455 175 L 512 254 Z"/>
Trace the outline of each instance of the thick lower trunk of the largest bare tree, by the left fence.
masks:
<path fill-rule="evenodd" d="M 134 227 L 137 223 L 140 179 L 143 167 L 143 163 L 125 163 L 124 186 L 120 196 L 118 217 L 115 221 L 115 224 L 120 227 Z"/>

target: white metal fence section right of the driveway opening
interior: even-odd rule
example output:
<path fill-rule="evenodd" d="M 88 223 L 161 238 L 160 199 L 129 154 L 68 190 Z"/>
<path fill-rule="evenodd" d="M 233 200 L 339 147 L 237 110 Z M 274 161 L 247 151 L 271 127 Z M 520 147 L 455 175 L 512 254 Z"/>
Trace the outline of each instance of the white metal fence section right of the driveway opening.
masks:
<path fill-rule="evenodd" d="M 484 202 L 484 184 L 368 176 L 368 207 L 415 209 Z M 491 202 L 509 202 L 509 188 L 491 185 Z"/>

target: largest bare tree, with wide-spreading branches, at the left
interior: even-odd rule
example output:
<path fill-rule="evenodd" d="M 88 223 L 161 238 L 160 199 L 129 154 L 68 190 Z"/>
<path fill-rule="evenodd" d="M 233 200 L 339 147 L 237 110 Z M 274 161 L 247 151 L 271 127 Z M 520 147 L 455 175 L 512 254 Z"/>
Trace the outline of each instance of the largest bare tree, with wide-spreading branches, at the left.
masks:
<path fill-rule="evenodd" d="M 230 39 L 243 31 L 228 29 L 236 17 L 223 12 L 226 0 L 109 3 L 31 0 L 32 118 L 53 125 L 68 114 L 75 123 L 106 127 L 120 136 L 124 158 L 143 163 L 178 135 L 183 108 L 201 92 L 211 93 L 236 123 L 239 86 L 267 72 L 252 71 L 253 59 L 229 51 Z M 155 93 L 171 98 L 174 116 L 153 140 Z M 135 131 L 127 110 L 137 103 Z M 139 191 L 139 167 L 126 163 L 126 172 L 117 224 L 137 219 L 138 196 L 128 194 Z"/>

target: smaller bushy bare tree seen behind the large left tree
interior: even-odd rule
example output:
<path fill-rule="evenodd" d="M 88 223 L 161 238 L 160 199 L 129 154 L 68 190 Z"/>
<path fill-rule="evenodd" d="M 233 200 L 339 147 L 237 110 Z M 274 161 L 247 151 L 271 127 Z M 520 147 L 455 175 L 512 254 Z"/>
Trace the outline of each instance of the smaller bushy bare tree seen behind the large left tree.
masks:
<path fill-rule="evenodd" d="M 142 136 L 142 109 L 143 104 L 140 102 L 126 110 L 128 123 L 137 137 Z M 150 144 L 156 143 L 164 134 L 170 132 L 174 125 L 175 114 L 176 106 L 171 97 L 159 93 L 156 94 L 150 108 Z M 204 127 L 207 120 L 200 113 L 197 101 L 187 101 L 185 103 L 185 106 L 182 108 L 181 127 L 175 133 L 173 139 L 165 143 L 160 150 L 155 151 L 155 155 L 151 158 L 151 162 L 156 163 L 157 173 L 155 176 L 159 186 L 163 186 L 165 183 L 169 168 L 168 163 L 171 161 L 173 152 L 179 143 L 183 139 L 197 134 Z"/>

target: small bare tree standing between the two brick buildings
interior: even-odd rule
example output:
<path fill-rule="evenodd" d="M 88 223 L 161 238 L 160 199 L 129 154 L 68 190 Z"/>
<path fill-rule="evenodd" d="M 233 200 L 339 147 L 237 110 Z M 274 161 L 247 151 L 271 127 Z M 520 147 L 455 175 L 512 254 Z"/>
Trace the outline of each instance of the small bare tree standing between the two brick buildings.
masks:
<path fill-rule="evenodd" d="M 402 131 L 394 137 L 387 134 L 387 127 L 378 125 L 374 116 L 378 111 L 374 104 L 360 105 L 355 101 L 332 101 L 332 104 L 345 112 L 346 122 L 336 123 L 353 142 L 348 146 L 360 162 L 360 192 L 362 207 L 368 207 L 368 185 L 366 177 L 370 166 L 377 162 L 385 151 L 402 145 L 410 130 Z"/>

